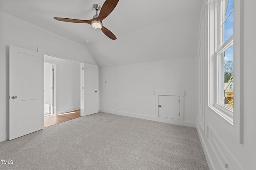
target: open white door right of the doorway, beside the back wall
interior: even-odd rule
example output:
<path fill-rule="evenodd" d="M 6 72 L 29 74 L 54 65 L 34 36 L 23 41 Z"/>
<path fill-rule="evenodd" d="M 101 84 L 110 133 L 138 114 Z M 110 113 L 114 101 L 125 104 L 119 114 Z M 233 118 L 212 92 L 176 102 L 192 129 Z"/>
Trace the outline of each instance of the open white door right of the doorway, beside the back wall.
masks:
<path fill-rule="evenodd" d="M 84 116 L 98 113 L 98 66 L 84 65 Z"/>

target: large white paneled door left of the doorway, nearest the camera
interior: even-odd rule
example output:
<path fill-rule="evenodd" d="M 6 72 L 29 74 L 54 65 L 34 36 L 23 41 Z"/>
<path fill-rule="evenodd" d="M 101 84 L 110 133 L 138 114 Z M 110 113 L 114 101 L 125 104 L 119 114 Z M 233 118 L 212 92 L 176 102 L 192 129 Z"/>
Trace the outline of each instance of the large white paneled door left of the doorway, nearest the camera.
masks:
<path fill-rule="evenodd" d="M 10 46 L 9 140 L 44 128 L 43 54 Z"/>

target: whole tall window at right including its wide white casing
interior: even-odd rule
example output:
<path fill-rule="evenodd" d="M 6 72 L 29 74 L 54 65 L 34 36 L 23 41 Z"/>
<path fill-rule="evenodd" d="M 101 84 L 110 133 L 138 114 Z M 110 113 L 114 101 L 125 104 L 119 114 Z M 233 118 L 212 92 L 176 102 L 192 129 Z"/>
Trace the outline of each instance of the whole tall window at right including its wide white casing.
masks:
<path fill-rule="evenodd" d="M 237 141 L 243 143 L 244 1 L 209 0 L 207 25 L 207 110 Z"/>

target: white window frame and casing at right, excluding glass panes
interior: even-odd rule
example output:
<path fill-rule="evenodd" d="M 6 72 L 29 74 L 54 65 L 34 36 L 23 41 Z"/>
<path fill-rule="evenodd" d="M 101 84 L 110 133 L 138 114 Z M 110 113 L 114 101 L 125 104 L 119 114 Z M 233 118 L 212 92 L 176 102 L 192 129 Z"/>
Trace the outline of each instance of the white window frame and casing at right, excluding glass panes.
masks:
<path fill-rule="evenodd" d="M 222 0 L 208 0 L 208 107 L 211 119 L 215 119 L 223 130 L 227 131 L 239 143 L 243 143 L 243 119 L 244 119 L 244 0 L 234 0 L 234 20 L 233 35 L 222 45 L 220 45 L 220 29 L 216 19 L 220 17 L 218 13 Z M 217 99 L 217 54 L 224 52 L 228 46 L 234 45 L 234 109 L 228 109 L 216 103 Z"/>

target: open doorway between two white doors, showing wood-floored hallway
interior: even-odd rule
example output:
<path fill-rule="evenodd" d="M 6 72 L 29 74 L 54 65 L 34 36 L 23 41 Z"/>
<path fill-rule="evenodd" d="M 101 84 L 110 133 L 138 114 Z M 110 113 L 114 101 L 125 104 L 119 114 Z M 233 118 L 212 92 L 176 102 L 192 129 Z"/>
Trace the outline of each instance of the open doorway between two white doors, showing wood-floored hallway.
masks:
<path fill-rule="evenodd" d="M 81 116 L 82 63 L 44 55 L 44 127 Z"/>

